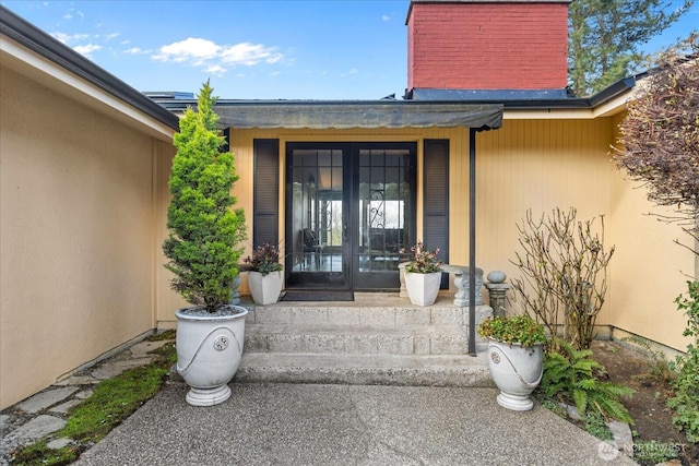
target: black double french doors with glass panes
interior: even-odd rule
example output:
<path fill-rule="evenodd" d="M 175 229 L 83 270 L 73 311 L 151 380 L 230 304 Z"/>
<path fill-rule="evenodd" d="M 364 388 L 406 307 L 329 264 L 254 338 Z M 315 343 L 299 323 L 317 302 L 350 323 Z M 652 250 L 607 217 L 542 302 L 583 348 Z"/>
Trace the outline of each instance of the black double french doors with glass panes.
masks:
<path fill-rule="evenodd" d="M 287 143 L 286 286 L 396 289 L 415 165 L 415 143 Z"/>

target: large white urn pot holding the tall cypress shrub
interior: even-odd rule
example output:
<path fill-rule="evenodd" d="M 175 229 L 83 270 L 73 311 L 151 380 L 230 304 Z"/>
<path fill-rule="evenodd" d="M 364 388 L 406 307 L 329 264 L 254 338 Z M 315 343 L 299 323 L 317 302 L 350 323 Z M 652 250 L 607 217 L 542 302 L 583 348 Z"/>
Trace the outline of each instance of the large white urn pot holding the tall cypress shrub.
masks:
<path fill-rule="evenodd" d="M 227 384 L 240 366 L 247 313 L 233 304 L 217 313 L 201 308 L 175 312 L 177 372 L 190 387 L 190 405 L 213 406 L 230 397 Z"/>

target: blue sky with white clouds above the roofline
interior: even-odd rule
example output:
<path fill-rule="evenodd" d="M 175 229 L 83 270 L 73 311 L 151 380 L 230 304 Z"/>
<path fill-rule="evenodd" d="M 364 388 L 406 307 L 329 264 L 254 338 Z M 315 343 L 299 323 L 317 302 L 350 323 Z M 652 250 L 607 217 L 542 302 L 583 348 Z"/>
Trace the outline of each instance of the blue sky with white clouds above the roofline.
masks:
<path fill-rule="evenodd" d="M 410 0 L 0 3 L 139 91 L 210 79 L 222 98 L 374 99 L 407 84 Z M 644 48 L 698 25 L 695 5 Z"/>

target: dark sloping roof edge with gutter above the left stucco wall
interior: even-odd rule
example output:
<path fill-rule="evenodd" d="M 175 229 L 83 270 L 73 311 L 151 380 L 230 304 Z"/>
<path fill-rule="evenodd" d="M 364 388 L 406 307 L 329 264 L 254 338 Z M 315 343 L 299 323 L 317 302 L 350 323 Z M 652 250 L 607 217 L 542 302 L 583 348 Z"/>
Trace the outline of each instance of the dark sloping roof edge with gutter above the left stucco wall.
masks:
<path fill-rule="evenodd" d="M 0 34 L 64 68 L 70 73 L 80 76 L 149 117 L 175 130 L 179 129 L 179 119 L 176 115 L 2 5 L 0 5 Z"/>

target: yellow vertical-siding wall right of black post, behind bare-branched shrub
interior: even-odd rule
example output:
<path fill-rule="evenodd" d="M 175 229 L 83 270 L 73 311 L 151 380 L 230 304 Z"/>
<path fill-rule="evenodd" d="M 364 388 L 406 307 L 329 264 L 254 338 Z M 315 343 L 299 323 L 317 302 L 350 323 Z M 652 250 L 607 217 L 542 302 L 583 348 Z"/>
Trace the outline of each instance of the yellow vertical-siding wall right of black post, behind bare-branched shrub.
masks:
<path fill-rule="evenodd" d="M 500 130 L 478 133 L 477 263 L 486 273 L 516 276 L 509 261 L 518 248 L 516 225 L 528 208 L 535 218 L 555 207 L 577 208 L 580 220 L 605 215 L 605 243 L 613 243 L 611 132 L 609 119 L 597 119 L 505 120 Z"/>

